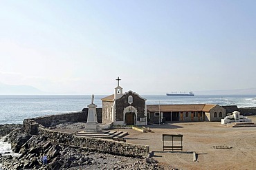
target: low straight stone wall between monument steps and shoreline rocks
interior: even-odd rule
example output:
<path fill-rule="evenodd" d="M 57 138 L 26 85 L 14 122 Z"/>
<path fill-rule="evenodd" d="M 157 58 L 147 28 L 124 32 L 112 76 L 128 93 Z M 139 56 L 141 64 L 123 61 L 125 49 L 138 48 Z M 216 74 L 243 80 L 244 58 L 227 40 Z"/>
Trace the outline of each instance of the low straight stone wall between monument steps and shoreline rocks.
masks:
<path fill-rule="evenodd" d="M 147 156 L 149 153 L 149 146 L 147 145 L 134 145 L 124 142 L 116 142 L 113 140 L 77 137 L 73 134 L 51 131 L 42 127 L 39 127 L 39 135 L 46 136 L 48 140 L 52 140 L 53 142 L 62 145 L 82 147 L 91 151 L 100 151 L 120 156 L 142 158 L 143 156 Z"/>

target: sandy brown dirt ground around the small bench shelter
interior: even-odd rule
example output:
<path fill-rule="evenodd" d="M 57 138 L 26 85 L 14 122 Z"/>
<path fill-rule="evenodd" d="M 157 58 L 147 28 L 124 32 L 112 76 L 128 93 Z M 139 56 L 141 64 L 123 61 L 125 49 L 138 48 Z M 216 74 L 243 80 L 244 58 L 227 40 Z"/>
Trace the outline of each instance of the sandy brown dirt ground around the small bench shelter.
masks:
<path fill-rule="evenodd" d="M 250 116 L 256 123 L 256 116 Z M 256 169 L 256 127 L 227 127 L 220 123 L 167 123 L 149 126 L 152 132 L 133 129 L 128 143 L 149 145 L 154 159 L 177 169 Z M 183 134 L 183 152 L 163 152 L 162 134 Z M 232 147 L 214 149 L 214 146 Z M 196 161 L 192 153 L 196 152 Z"/>

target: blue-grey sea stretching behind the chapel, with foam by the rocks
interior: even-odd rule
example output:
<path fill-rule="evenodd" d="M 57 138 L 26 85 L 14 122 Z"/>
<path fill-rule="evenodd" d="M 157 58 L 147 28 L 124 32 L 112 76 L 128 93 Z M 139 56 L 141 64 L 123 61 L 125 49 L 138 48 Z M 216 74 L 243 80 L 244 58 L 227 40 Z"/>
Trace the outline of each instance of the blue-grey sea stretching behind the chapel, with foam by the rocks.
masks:
<path fill-rule="evenodd" d="M 95 95 L 94 102 L 102 107 L 101 98 Z M 256 95 L 195 95 L 165 96 L 141 95 L 147 105 L 216 104 L 256 107 Z M 0 124 L 21 124 L 25 118 L 82 111 L 91 103 L 89 95 L 0 95 Z M 10 144 L 0 139 L 0 153 L 12 153 Z M 1 164 L 0 164 L 1 169 Z"/>

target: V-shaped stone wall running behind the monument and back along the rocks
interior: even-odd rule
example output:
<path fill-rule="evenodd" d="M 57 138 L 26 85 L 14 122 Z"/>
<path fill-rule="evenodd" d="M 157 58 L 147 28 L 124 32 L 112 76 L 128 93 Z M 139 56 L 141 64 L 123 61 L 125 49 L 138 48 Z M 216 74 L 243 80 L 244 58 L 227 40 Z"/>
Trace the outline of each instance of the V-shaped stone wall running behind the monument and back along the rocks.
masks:
<path fill-rule="evenodd" d="M 97 108 L 98 122 L 102 122 L 101 108 Z M 44 127 L 51 127 L 60 123 L 67 122 L 86 122 L 88 108 L 83 111 L 77 111 L 68 114 L 56 114 L 51 116 L 42 116 L 37 118 L 25 119 L 23 122 L 24 129 L 31 135 L 46 136 L 48 140 L 62 145 L 69 145 L 73 147 L 82 147 L 91 151 L 100 151 L 103 153 L 111 153 L 120 156 L 134 156 L 141 158 L 147 156 L 149 153 L 149 146 L 134 145 L 124 142 L 116 142 L 112 140 L 104 140 L 98 138 L 77 137 L 73 134 L 66 134 L 58 131 L 45 129 Z"/>

